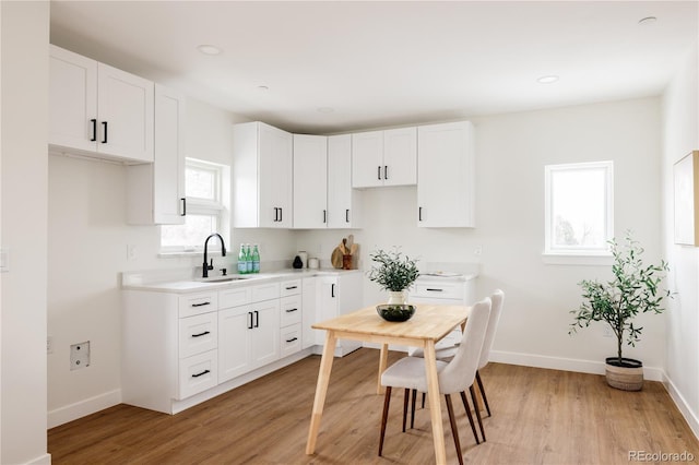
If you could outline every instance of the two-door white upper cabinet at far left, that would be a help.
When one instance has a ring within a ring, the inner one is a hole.
[[[56,46],[49,72],[50,145],[153,162],[153,82]]]

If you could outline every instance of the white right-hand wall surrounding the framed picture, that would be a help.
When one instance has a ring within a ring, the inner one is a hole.
[[[677,246],[673,231],[673,165],[699,150],[699,46],[695,44],[684,68],[663,98],[664,253],[670,283],[677,295],[667,311],[665,372],[668,391],[699,436],[699,248]],[[695,205],[695,207],[699,207]]]

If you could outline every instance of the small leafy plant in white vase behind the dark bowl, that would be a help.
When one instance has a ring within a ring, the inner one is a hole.
[[[398,249],[386,252],[381,249],[369,253],[375,264],[367,273],[370,281],[389,291],[388,303],[405,303],[406,290],[419,276],[415,260],[403,255]]]

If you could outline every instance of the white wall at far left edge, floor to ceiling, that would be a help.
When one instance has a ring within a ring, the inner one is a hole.
[[[50,463],[46,443],[49,4],[3,1],[0,463]]]

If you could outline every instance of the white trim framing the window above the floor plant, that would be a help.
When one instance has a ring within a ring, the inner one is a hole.
[[[552,248],[553,238],[553,202],[552,177],[556,171],[574,169],[602,168],[605,170],[605,237],[614,238],[614,162],[589,162],[564,165],[546,165],[544,167],[544,253],[543,261],[548,264],[607,265],[613,263],[608,247],[600,248]]]

